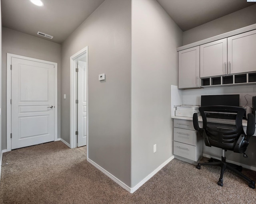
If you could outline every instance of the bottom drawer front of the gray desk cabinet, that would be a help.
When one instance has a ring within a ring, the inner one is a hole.
[[[196,147],[180,142],[173,142],[173,153],[180,157],[196,161]]]

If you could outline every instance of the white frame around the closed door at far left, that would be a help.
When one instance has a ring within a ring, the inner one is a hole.
[[[11,106],[11,98],[12,98],[12,72],[11,72],[11,64],[12,64],[12,57],[18,58],[18,59],[25,59],[30,61],[35,61],[39,63],[46,63],[50,65],[54,65],[54,141],[58,140],[58,96],[57,96],[57,74],[58,74],[58,63],[45,61],[41,59],[31,58],[31,57],[24,57],[21,55],[14,55],[11,53],[7,53],[7,97],[6,97],[6,123],[7,123],[7,129],[6,129],[6,143],[7,143],[7,151],[12,150],[12,140],[10,137],[11,131],[12,131],[12,106]]]

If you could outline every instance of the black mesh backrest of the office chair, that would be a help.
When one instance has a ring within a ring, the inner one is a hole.
[[[244,142],[245,133],[242,126],[242,118],[245,109],[235,106],[202,106],[199,111],[203,120],[201,129],[205,144],[207,146],[219,147],[225,150],[234,151],[235,145],[242,146],[245,151],[248,143]],[[215,122],[212,116],[215,116]],[[227,119],[227,116],[230,119]],[[229,124],[229,125],[226,125]],[[238,140],[240,144],[238,144]],[[246,145],[246,147],[245,147]],[[237,149],[237,148],[236,148]],[[241,151],[241,150],[236,150]]]

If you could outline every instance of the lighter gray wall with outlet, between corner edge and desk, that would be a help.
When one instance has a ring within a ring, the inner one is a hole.
[[[182,31],[156,0],[132,0],[132,187],[172,156],[170,93],[181,45]]]

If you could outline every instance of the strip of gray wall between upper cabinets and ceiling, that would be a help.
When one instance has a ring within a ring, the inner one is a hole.
[[[183,45],[256,24],[256,4],[183,32]]]

